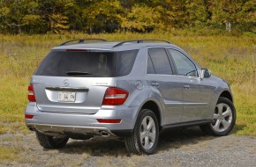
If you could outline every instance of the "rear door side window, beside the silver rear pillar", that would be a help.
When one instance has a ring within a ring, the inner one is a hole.
[[[148,58],[151,58],[150,60],[152,61],[151,63],[153,63],[152,65],[154,68],[153,71],[151,70],[152,67],[147,67],[148,74],[152,74],[152,72],[155,72],[155,74],[172,74],[172,70],[169,65],[169,58],[164,48],[150,48],[148,49],[148,54]],[[147,66],[151,66],[150,62],[147,63]],[[150,69],[150,71],[148,69]]]

